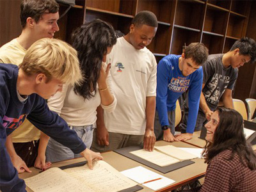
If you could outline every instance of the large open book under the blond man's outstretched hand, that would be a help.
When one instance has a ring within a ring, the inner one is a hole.
[[[50,168],[25,182],[35,192],[115,192],[137,185],[105,161],[94,161],[93,170],[87,164],[65,170]]]

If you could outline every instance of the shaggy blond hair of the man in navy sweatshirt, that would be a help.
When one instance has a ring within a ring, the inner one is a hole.
[[[51,38],[36,41],[19,65],[27,76],[42,73],[50,81],[55,77],[62,83],[79,84],[83,79],[77,51],[69,44]]]

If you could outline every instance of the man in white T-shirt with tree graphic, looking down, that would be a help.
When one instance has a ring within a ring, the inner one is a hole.
[[[156,142],[156,58],[147,49],[157,31],[152,12],[138,13],[130,31],[117,39],[107,60],[111,62],[113,90],[117,99],[112,113],[102,113],[93,134],[92,150],[106,151],[140,145],[152,150]]]

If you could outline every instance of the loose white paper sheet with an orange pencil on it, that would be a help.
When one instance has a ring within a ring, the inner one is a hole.
[[[124,174],[126,177],[129,177],[130,179],[138,182],[139,184],[143,184],[144,182],[147,182],[148,180],[154,180],[161,178],[159,180],[154,180],[152,182],[148,182],[143,184],[143,186],[146,186],[147,188],[158,190],[161,188],[164,188],[165,186],[168,186],[175,182],[175,180],[168,179],[167,177],[164,177],[163,175],[160,175],[158,173],[152,172],[143,166],[136,166],[134,168],[131,168],[129,170],[125,170],[123,172],[120,172]]]

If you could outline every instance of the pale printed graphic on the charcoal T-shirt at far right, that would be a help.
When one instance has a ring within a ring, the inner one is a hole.
[[[209,83],[205,84],[204,88],[204,97],[207,102],[210,102],[211,104],[218,104],[220,102],[220,97],[225,92],[225,89],[228,86],[228,83],[230,81],[229,76],[222,76],[221,74],[214,74],[212,76],[211,81]],[[221,90],[221,87],[222,90]]]

